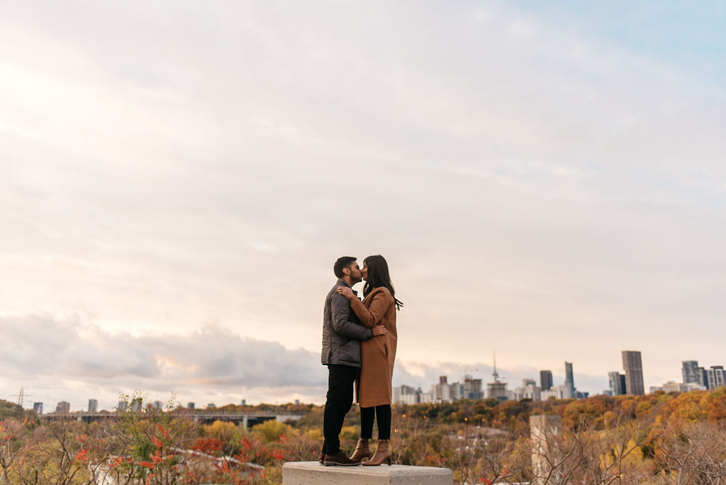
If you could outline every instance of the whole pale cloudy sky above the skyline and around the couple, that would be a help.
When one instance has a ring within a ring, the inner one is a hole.
[[[0,3],[0,399],[325,402],[338,256],[393,385],[726,364],[719,1]]]

